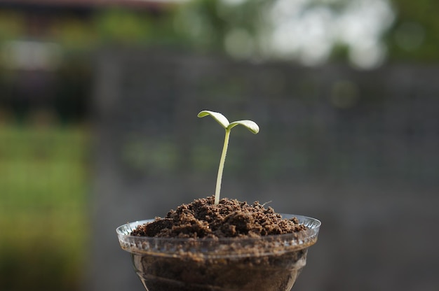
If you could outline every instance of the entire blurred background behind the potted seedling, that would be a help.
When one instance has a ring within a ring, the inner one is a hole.
[[[439,2],[0,1],[0,290],[142,290],[115,229],[322,220],[294,290],[437,290]]]

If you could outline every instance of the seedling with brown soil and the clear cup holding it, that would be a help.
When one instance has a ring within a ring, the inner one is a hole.
[[[219,199],[231,129],[241,125],[257,134],[259,127],[198,113],[208,115],[226,131],[215,196],[182,204],[164,218],[118,227],[121,248],[149,291],[288,291],[317,241],[320,221],[281,215],[257,201]]]

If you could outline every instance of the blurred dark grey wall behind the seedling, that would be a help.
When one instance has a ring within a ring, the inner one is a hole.
[[[305,68],[176,52],[97,57],[93,290],[142,290],[114,229],[212,194],[320,218],[297,290],[435,290],[439,68]]]

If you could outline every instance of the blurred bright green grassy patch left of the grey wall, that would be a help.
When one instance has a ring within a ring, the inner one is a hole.
[[[89,236],[88,131],[0,126],[0,289],[78,290]]]

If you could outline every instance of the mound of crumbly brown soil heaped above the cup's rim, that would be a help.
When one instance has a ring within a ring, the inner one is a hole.
[[[221,199],[218,205],[213,202],[214,197],[208,197],[182,204],[165,218],[138,226],[131,235],[212,239],[290,234],[306,229],[297,218],[284,219],[259,201],[252,205],[234,199]]]

